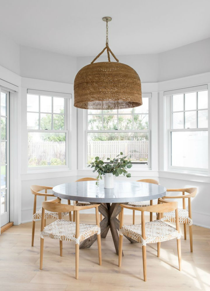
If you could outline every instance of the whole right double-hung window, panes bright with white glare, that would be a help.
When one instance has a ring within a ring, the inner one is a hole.
[[[174,90],[171,93],[168,166],[205,172],[208,170],[207,85]]]

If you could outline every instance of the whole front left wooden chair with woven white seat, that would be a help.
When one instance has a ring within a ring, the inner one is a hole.
[[[76,279],[79,273],[79,244],[81,241],[97,234],[98,240],[98,254],[99,265],[101,266],[101,235],[98,206],[100,204],[91,204],[86,206],[74,206],[61,204],[61,199],[49,200],[42,203],[42,220],[40,233],[40,270],[43,264],[43,246],[44,238],[52,238],[60,241],[60,256],[62,256],[62,241],[71,241],[75,243],[76,253]],[[95,208],[96,211],[96,225],[79,223],[79,211],[82,209]],[[52,211],[58,213],[59,219],[45,226],[45,211]],[[76,211],[76,223],[62,219],[62,213]]]

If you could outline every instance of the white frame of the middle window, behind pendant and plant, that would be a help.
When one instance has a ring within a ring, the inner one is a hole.
[[[87,160],[88,160],[88,133],[111,133],[111,132],[129,132],[129,133],[135,133],[135,132],[140,132],[140,133],[144,133],[147,132],[148,133],[148,163],[147,164],[142,164],[139,162],[133,162],[133,168],[138,167],[138,168],[142,168],[142,169],[150,169],[151,168],[151,99],[152,99],[152,93],[142,93],[142,99],[143,98],[148,98],[148,129],[144,129],[144,130],[88,130],[88,110],[85,110],[85,168],[87,168]],[[141,113],[139,113],[141,115]],[[142,113],[144,114],[144,113]],[[93,114],[94,116],[96,115],[102,115],[101,113],[99,114]],[[106,114],[108,115],[108,114]],[[110,113],[110,115],[112,115]],[[118,113],[117,115],[121,115],[120,113]],[[124,114],[122,114],[124,115]],[[130,115],[130,113],[128,113],[127,115]],[[132,115],[134,116],[134,114],[132,113]],[[102,118],[102,122],[103,122],[103,118]]]

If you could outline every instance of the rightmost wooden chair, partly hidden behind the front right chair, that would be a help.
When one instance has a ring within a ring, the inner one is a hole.
[[[190,252],[192,249],[192,209],[191,197],[195,197],[197,188],[183,188],[183,189],[167,189],[167,192],[182,192],[180,196],[164,196],[162,199],[182,199],[182,208],[178,208],[179,223],[184,225],[184,239],[186,240],[186,224],[189,224],[190,235]],[[185,194],[187,193],[187,194]],[[188,198],[188,211],[186,210],[185,199]],[[162,220],[168,222],[176,222],[175,212],[171,211],[162,214]]]

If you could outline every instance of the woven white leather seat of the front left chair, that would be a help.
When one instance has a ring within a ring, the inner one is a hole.
[[[81,241],[94,234],[99,235],[101,229],[98,225],[91,225],[80,223],[79,224],[79,237],[76,239],[76,223],[73,221],[67,221],[64,219],[58,219],[49,225],[45,226],[43,231],[40,233],[40,237],[53,238],[55,240],[71,241],[75,244],[80,244]]]

